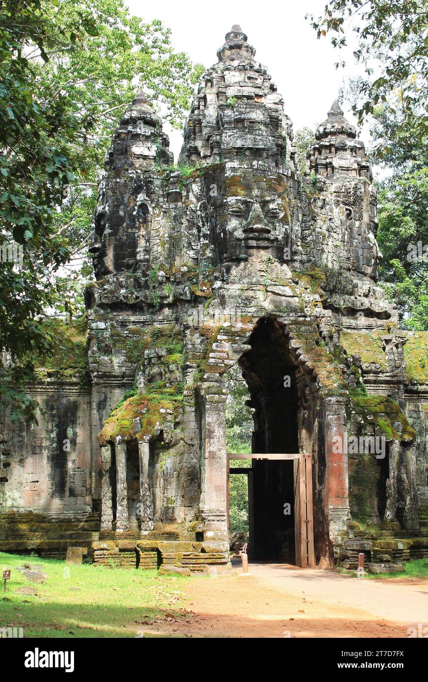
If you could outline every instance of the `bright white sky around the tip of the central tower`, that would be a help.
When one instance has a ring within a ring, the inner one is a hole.
[[[352,49],[334,49],[330,38],[317,40],[305,14],[322,14],[326,0],[127,0],[127,5],[144,20],[161,19],[172,31],[172,44],[186,52],[194,63],[206,68],[217,62],[217,48],[233,24],[239,24],[256,48],[256,59],[271,74],[284,98],[284,108],[292,119],[294,131],[303,125],[316,128],[326,118],[344,77],[358,72]],[[353,40],[352,33],[349,35]],[[335,62],[346,59],[345,69],[336,70]],[[353,121],[346,103],[345,115]],[[181,133],[170,134],[170,147],[177,162]],[[367,134],[362,136],[363,140]]]

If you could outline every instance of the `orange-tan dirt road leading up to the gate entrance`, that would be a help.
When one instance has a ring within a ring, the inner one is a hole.
[[[428,626],[428,581],[357,579],[322,570],[251,564],[180,581],[188,597],[162,632],[192,637],[408,637]],[[157,632],[159,629],[157,628]]]

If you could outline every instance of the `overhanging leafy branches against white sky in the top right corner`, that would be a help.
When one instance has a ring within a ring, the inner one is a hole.
[[[354,57],[365,68],[353,104],[358,121],[388,102],[393,114],[401,113],[401,143],[406,128],[422,143],[428,134],[428,1],[330,0],[323,16],[310,19],[318,38],[333,33],[337,48],[348,44],[349,31],[358,38]],[[385,151],[381,144],[374,149],[380,158]]]

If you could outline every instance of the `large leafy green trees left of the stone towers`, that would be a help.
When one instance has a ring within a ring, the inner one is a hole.
[[[0,264],[0,351],[12,359],[0,391],[14,416],[33,412],[22,384],[52,344],[46,309],[81,303],[81,272],[58,274],[89,246],[96,170],[121,110],[144,86],[177,124],[199,74],[162,23],[122,0],[0,1],[0,246],[22,256]]]

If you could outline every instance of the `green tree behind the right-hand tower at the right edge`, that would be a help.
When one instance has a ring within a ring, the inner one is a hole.
[[[378,191],[381,284],[396,303],[403,327],[428,330],[428,139],[418,143],[388,104],[378,106],[373,118],[374,140],[390,150],[383,160],[390,174]],[[401,144],[403,134],[406,144]]]

